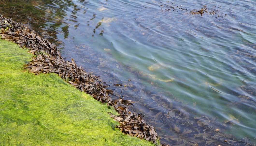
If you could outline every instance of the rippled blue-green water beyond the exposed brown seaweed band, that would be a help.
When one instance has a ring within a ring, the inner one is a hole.
[[[66,60],[99,75],[113,99],[137,101],[129,107],[169,145],[195,145],[190,134],[197,139],[198,131],[255,143],[255,4],[0,1],[4,17],[35,30],[58,45]],[[200,118],[209,121],[208,131],[189,125],[205,127]],[[218,127],[230,120],[230,128]]]

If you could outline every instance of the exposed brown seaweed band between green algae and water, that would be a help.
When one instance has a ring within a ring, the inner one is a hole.
[[[122,103],[112,101],[99,76],[83,71],[83,68],[78,67],[74,60],[72,62],[65,61],[54,44],[41,38],[34,31],[30,31],[20,23],[0,15],[0,28],[2,38],[14,41],[21,47],[26,47],[29,49],[28,52],[36,55],[32,61],[25,65],[25,69],[29,72],[58,74],[71,85],[86,92],[96,100],[113,106],[119,113],[119,116],[114,116],[114,119],[118,119],[120,125],[117,127],[122,132],[140,139],[146,139],[152,143],[157,142],[158,135],[154,127],[144,122],[140,115],[130,111]]]

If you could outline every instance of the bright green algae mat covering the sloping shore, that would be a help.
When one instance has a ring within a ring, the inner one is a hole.
[[[34,75],[32,55],[0,40],[0,145],[154,145],[124,135],[96,101],[56,74]]]

